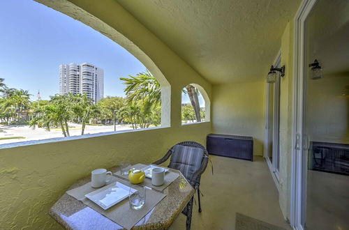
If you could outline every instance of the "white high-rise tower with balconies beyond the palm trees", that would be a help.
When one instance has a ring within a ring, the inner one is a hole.
[[[98,102],[103,98],[104,71],[90,63],[59,66],[59,94],[86,94]]]

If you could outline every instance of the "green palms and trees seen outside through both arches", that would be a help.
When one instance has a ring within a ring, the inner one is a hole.
[[[61,128],[69,137],[69,123],[82,125],[81,135],[90,123],[129,123],[133,129],[149,128],[161,124],[161,86],[146,70],[136,76],[121,77],[126,86],[125,98],[107,96],[96,104],[87,95],[64,94],[50,96],[50,100],[31,101],[29,91],[8,88],[0,78],[1,124],[29,124],[32,128]],[[184,89],[191,99],[185,109],[184,120],[202,121],[205,113],[200,110],[198,90],[189,85]],[[194,117],[195,116],[195,117]]]

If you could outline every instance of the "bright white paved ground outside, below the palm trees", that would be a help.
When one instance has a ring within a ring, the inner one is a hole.
[[[69,126],[74,127],[69,129],[70,136],[81,135],[82,125],[70,123]],[[3,132],[0,132],[0,138],[25,137],[25,139],[3,139],[0,140],[0,144],[64,137],[61,129],[52,129],[51,131],[47,131],[44,128],[29,128],[29,125],[0,125],[0,130],[3,130]],[[132,127],[130,127],[130,125],[117,125],[117,131],[119,130],[132,130]],[[84,134],[93,134],[98,132],[114,132],[114,125],[86,125],[84,130]]]

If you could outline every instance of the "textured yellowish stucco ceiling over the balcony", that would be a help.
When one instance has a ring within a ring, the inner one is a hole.
[[[262,79],[300,0],[116,0],[214,84]]]

